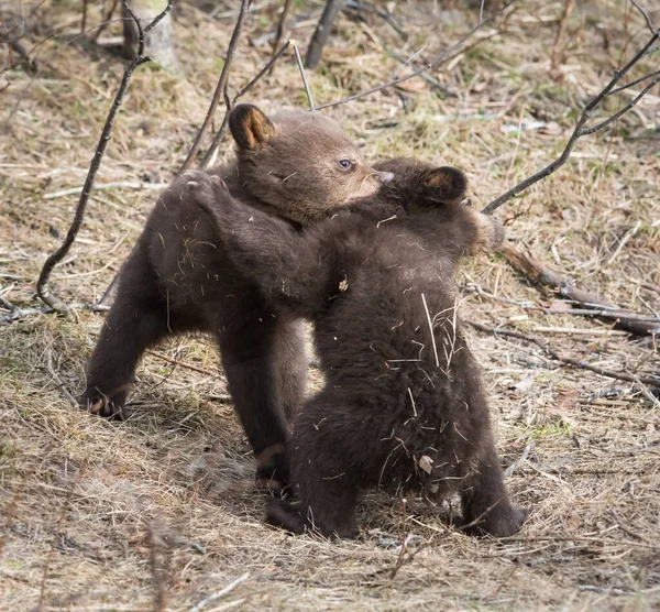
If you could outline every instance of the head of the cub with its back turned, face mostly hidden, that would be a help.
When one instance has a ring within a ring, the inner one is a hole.
[[[492,253],[501,247],[504,228],[493,217],[472,208],[465,198],[468,178],[460,170],[407,157],[376,164],[376,168],[395,175],[382,193],[399,203],[408,218],[419,218],[420,231],[442,228],[442,234],[436,237],[439,243],[451,242],[471,255]]]

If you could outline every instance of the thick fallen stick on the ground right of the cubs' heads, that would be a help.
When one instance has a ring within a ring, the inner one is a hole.
[[[573,286],[571,283],[548,270],[539,260],[531,255],[521,253],[510,244],[505,244],[499,249],[506,260],[530,282],[550,287],[566,299],[571,299],[584,307],[586,316],[597,317],[607,321],[615,321],[616,329],[625,329],[639,336],[660,335],[660,321],[657,319],[640,320],[640,316],[635,313],[626,313],[617,306],[609,304],[583,289]],[[595,309],[594,306],[602,308]],[[646,318],[646,317],[644,317]]]

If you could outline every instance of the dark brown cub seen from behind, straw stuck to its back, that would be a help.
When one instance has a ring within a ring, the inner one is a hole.
[[[493,250],[503,228],[461,203],[450,167],[395,160],[380,194],[295,232],[234,200],[221,181],[189,175],[237,269],[279,305],[311,319],[324,387],[294,419],[294,501],[266,501],[267,520],[294,533],[358,533],[369,487],[438,496],[460,492],[463,526],[508,536],[527,512],[512,506],[480,370],[461,332],[453,272]]]

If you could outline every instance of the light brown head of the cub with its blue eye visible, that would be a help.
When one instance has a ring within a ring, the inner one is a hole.
[[[374,195],[394,178],[367,166],[341,128],[318,112],[268,118],[255,106],[239,105],[229,128],[243,188],[295,221]]]

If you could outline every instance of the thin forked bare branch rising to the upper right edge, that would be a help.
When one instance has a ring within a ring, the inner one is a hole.
[[[559,167],[561,167],[563,164],[565,164],[565,162],[568,161],[568,159],[571,155],[571,152],[573,151],[573,147],[575,146],[575,143],[578,142],[578,140],[580,138],[582,138],[583,135],[593,134],[594,132],[602,130],[603,128],[607,127],[609,123],[612,123],[613,121],[618,119],[622,114],[625,114],[626,112],[628,112],[649,91],[649,89],[651,89],[651,87],[654,87],[658,83],[660,83],[660,76],[656,77],[654,79],[651,80],[651,83],[649,83],[641,90],[641,92],[630,103],[626,105],[622,110],[619,110],[618,112],[616,112],[615,114],[613,114],[612,117],[606,119],[605,121],[602,121],[601,123],[597,123],[596,125],[593,125],[592,128],[584,127],[586,124],[588,118],[591,117],[592,111],[607,96],[609,96],[612,94],[612,91],[615,88],[615,85],[617,83],[619,83],[620,79],[630,70],[630,68],[632,66],[635,66],[644,57],[646,52],[651,47],[651,45],[658,39],[660,39],[660,31],[653,32],[652,36],[649,39],[649,41],[646,43],[646,45],[644,45],[644,47],[635,55],[635,57],[632,57],[632,59],[630,59],[630,62],[628,62],[620,70],[615,72],[614,77],[601,90],[601,92],[587,102],[587,105],[584,107],[584,110],[582,111],[582,114],[580,116],[580,119],[578,120],[578,124],[575,125],[575,129],[573,130],[573,133],[571,134],[569,142],[566,143],[564,150],[562,151],[561,155],[557,160],[554,160],[553,162],[548,164],[543,170],[537,172],[536,174],[527,177],[525,181],[518,183],[518,185],[510,188],[508,192],[506,192],[506,194],[503,194],[498,198],[495,198],[491,204],[488,204],[488,206],[486,206],[482,210],[482,212],[485,212],[485,214],[493,212],[493,210],[496,210],[503,204],[507,203],[509,199],[517,196],[519,193],[524,192],[525,189],[527,189],[535,183],[538,183],[539,181],[541,181],[541,178],[546,178],[546,176],[551,175]]]

